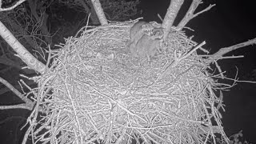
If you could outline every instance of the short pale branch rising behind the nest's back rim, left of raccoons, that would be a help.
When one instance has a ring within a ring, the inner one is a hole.
[[[108,22],[106,20],[106,15],[104,14],[104,11],[102,9],[101,2],[99,2],[99,0],[91,0],[91,3],[93,4],[94,10],[98,15],[99,22],[101,22],[102,25],[107,25]]]

